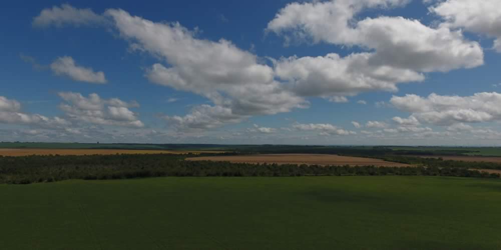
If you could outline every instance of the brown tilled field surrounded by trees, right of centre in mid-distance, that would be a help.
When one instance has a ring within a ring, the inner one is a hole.
[[[381,159],[340,156],[333,154],[256,154],[231,156],[192,157],[187,160],[230,161],[236,163],[318,164],[318,165],[376,165],[412,166]]]

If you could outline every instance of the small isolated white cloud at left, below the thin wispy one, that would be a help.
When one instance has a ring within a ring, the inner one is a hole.
[[[92,68],[76,65],[71,56],[58,57],[50,67],[56,75],[68,76],[77,81],[89,83],[107,82],[103,71],[94,72]]]

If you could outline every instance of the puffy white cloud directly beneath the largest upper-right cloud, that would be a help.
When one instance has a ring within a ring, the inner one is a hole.
[[[276,73],[290,82],[290,89],[301,96],[354,95],[359,92],[396,91],[398,82],[424,80],[418,72],[374,65],[373,53],[356,53],[340,57],[291,56],[276,62]]]

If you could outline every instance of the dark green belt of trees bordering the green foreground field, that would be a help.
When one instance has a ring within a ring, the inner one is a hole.
[[[125,179],[160,176],[436,175],[499,177],[499,174],[489,174],[462,166],[321,166],[184,160],[186,157],[194,156],[206,156],[206,154],[0,156],[0,183],[28,184],[65,179]]]

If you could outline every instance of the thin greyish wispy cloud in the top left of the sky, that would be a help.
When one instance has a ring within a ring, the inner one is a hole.
[[[96,14],[90,8],[75,8],[69,4],[62,4],[61,7],[53,6],[45,8],[38,16],[33,18],[33,26],[49,27],[54,25],[62,27],[64,25],[92,25],[105,23],[106,19]]]

